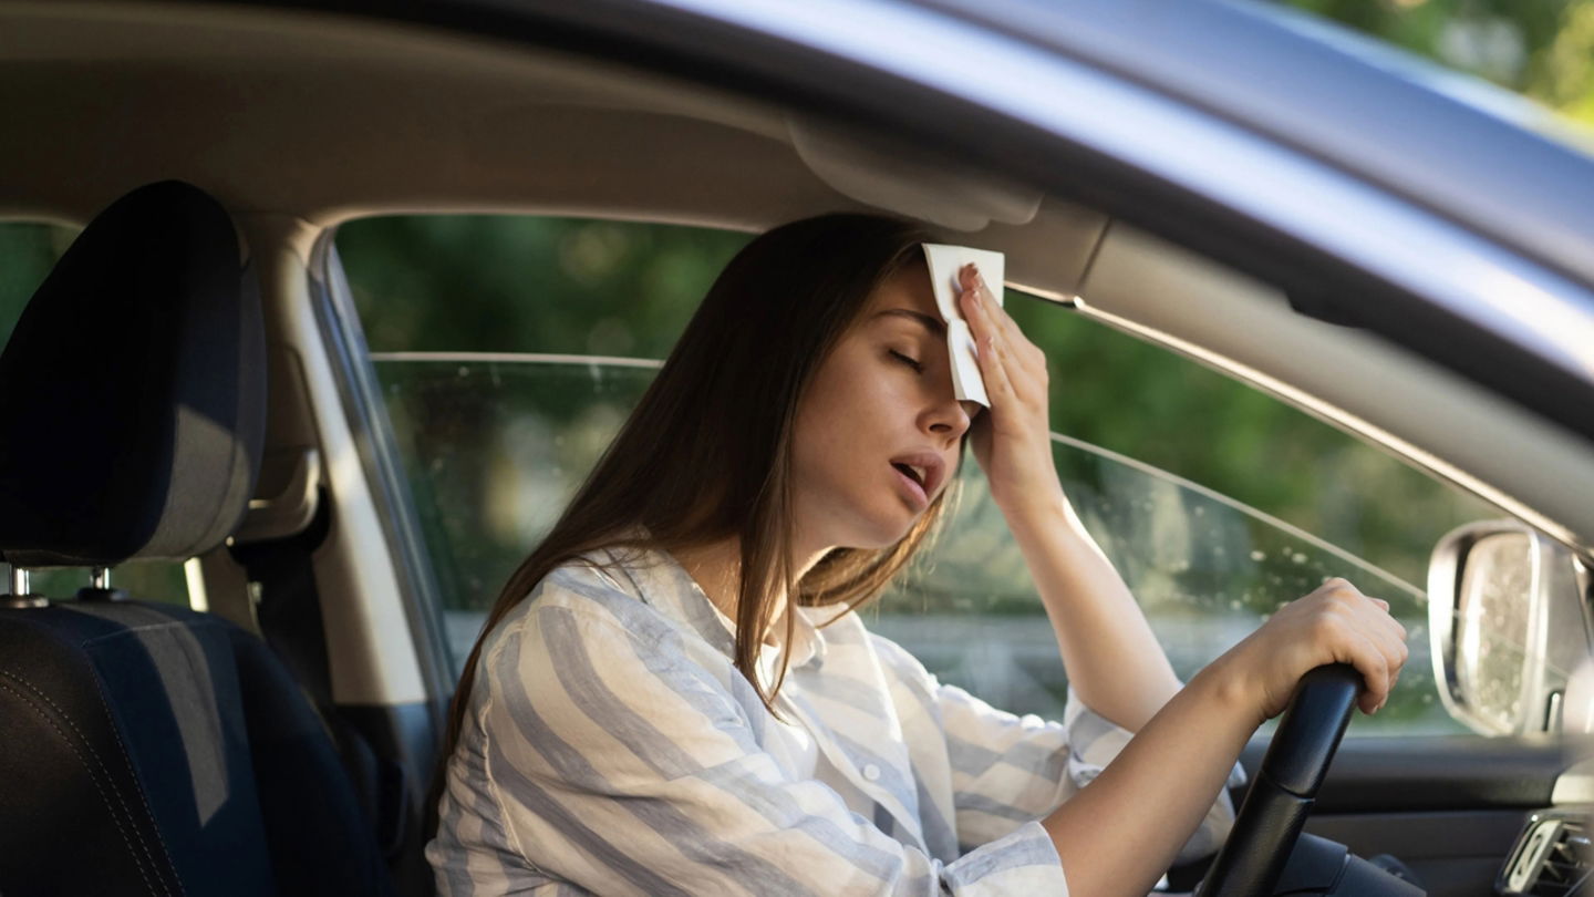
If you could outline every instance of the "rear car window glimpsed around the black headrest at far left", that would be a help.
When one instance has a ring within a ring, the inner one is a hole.
[[[78,228],[48,222],[0,222],[0,345],[11,340],[18,318],[27,308],[51,267],[77,238]],[[11,591],[11,567],[0,563],[3,584]],[[164,562],[124,563],[112,570],[113,587],[131,595],[169,603],[190,603],[188,581],[183,565]],[[30,575],[29,587],[51,599],[70,599],[88,586],[84,570],[38,570]]]

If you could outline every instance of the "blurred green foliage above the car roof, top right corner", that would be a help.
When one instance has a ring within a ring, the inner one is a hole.
[[[1594,0],[1285,0],[1594,126]]]

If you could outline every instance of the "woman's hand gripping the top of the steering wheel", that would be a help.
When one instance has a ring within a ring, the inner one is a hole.
[[[1372,713],[1388,699],[1408,656],[1406,627],[1388,610],[1388,602],[1369,599],[1336,576],[1280,608],[1213,667],[1254,701],[1258,725],[1283,712],[1307,670],[1336,662],[1361,674],[1358,704]]]

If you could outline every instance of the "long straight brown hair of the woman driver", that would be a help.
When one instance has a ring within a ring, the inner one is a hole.
[[[792,426],[837,340],[886,278],[923,263],[918,244],[931,239],[907,222],[830,214],[770,230],[730,260],[620,434],[488,613],[450,707],[443,763],[488,634],[555,567],[595,549],[677,551],[735,536],[735,664],[767,707],[786,675],[784,654],[773,683],[754,666],[775,597],[858,607],[886,586],[940,516],[945,492],[899,543],[834,549],[794,583]]]

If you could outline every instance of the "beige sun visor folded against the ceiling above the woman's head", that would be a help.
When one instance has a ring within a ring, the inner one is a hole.
[[[1035,219],[1041,193],[1007,180],[931,161],[910,145],[859,139],[834,126],[787,117],[797,156],[837,193],[899,215],[974,231],[991,222]]]

